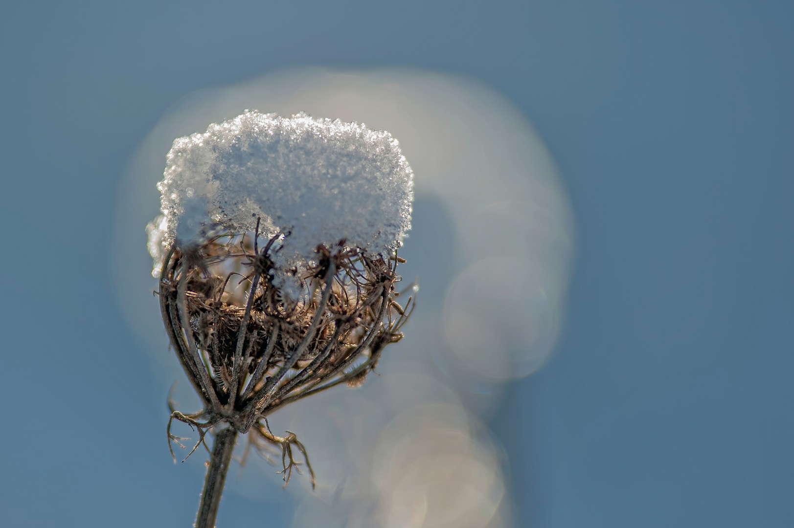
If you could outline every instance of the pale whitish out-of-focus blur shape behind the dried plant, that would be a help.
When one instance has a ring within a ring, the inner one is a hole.
[[[476,413],[496,403],[499,383],[540,368],[561,329],[572,215],[542,141],[498,94],[426,71],[302,68],[184,98],[133,157],[114,231],[121,310],[152,353],[164,395],[181,375],[151,293],[144,228],[158,214],[156,182],[174,138],[245,109],[388,130],[415,174],[409,262],[398,271],[422,288],[406,338],[386,349],[380,376],[364,387],[270,419],[274,433],[298,434],[318,476],[314,492],[301,476],[287,488],[303,496],[294,526],[509,525],[503,455]],[[178,399],[189,401],[187,392]],[[260,465],[251,461],[245,474]],[[280,492],[265,467],[273,484],[259,488]],[[228,485],[256,495],[250,482]]]

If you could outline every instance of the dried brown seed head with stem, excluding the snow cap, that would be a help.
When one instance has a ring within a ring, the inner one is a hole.
[[[227,233],[191,249],[172,248],[160,274],[160,309],[173,349],[202,399],[203,409],[183,414],[171,407],[168,447],[186,449],[171,433],[173,420],[198,430],[187,455],[215,434],[197,528],[214,526],[225,475],[238,434],[266,454],[281,450],[286,486],[295,461],[293,449],[312,470],[306,448],[295,434],[272,434],[273,411],[341,383],[356,387],[376,368],[383,349],[403,334],[414,308],[401,306],[395,292],[396,265],[403,261],[349,248],[318,246],[315,262],[291,270],[301,288],[298,299],[274,285],[272,253],[284,233],[258,244],[253,236]],[[288,236],[288,235],[287,235]],[[239,282],[235,279],[241,277]],[[173,455],[173,450],[171,451]]]

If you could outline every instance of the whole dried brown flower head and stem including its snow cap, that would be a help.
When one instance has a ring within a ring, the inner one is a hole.
[[[413,303],[398,302],[397,249],[410,228],[412,172],[388,133],[247,111],[177,139],[159,188],[163,215],[148,233],[160,308],[204,406],[172,409],[172,420],[199,430],[194,451],[228,426],[216,437],[202,526],[238,433],[282,450],[286,482],[293,447],[306,451],[295,434],[272,434],[268,414],[360,385],[402,337]],[[169,447],[182,440],[170,425]]]

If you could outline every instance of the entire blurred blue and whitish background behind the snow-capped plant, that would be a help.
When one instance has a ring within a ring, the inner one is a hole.
[[[790,3],[0,13],[2,526],[193,522],[143,227],[257,106],[395,133],[421,289],[381,376],[273,417],[318,491],[252,457],[218,526],[794,524]]]

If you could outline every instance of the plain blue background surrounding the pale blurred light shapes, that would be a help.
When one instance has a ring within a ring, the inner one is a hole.
[[[790,2],[4,2],[0,524],[189,526],[116,186],[184,94],[320,64],[480,79],[569,187],[565,335],[491,422],[518,526],[794,526],[792,50]]]

